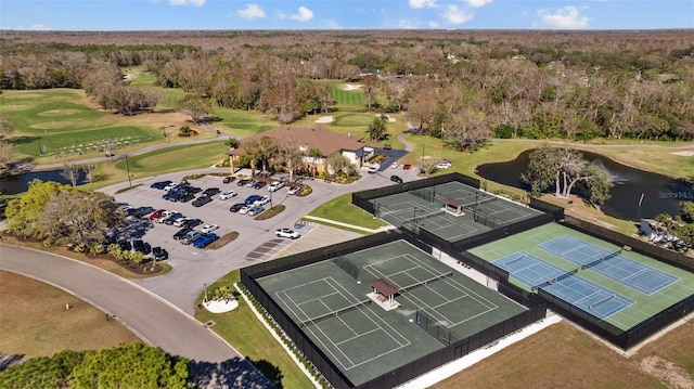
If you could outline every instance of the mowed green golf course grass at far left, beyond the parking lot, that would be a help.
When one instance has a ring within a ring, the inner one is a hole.
[[[0,114],[15,128],[9,137],[14,157],[33,158],[36,164],[101,156],[108,143],[120,154],[163,142],[163,128],[175,140],[174,133],[187,122],[177,113],[123,116],[103,112],[82,90],[73,89],[4,91]]]

